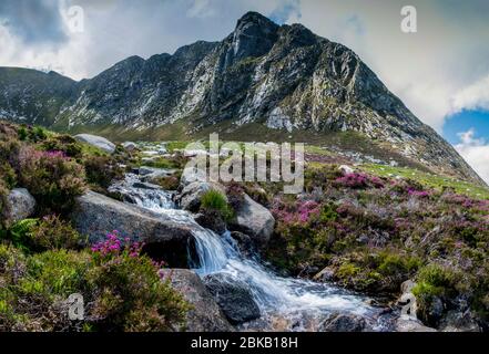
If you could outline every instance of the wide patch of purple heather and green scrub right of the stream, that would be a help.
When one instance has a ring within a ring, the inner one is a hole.
[[[489,200],[336,165],[309,167],[305,184],[297,197],[274,192],[275,266],[304,277],[324,269],[343,287],[393,298],[414,279],[426,323],[437,324],[426,315],[435,296],[446,310],[465,299],[487,321]]]

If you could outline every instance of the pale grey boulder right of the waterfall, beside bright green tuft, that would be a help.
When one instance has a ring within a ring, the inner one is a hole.
[[[230,222],[231,230],[248,235],[258,248],[263,248],[268,243],[274,227],[275,219],[272,212],[246,194],[237,207],[236,217]]]

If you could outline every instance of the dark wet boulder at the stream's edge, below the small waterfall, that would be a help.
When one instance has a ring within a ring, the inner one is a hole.
[[[259,308],[245,282],[216,273],[206,275],[204,283],[232,324],[259,317]]]

